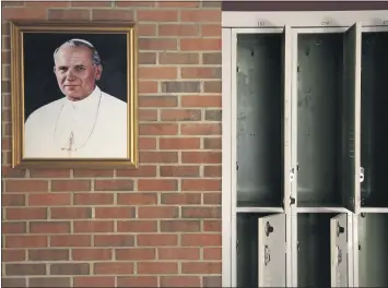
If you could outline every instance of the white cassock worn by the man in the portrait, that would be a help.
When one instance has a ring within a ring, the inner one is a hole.
[[[25,122],[27,158],[127,157],[127,104],[102,92],[67,97],[35,110]]]

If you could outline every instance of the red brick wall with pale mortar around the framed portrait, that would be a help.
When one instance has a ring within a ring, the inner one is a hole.
[[[221,286],[221,8],[2,3],[3,286]],[[11,169],[5,20],[133,20],[140,168]]]

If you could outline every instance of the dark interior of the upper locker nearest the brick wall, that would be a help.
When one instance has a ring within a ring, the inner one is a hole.
[[[238,206],[282,205],[282,35],[237,37]]]

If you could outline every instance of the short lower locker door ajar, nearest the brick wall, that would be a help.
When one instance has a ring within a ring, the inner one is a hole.
[[[258,286],[286,287],[285,215],[258,219]]]

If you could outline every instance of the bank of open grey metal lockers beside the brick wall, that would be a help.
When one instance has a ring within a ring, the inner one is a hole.
[[[358,17],[223,28],[226,286],[388,286],[388,17]]]

